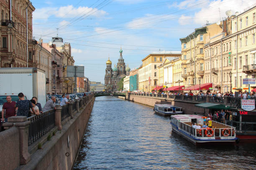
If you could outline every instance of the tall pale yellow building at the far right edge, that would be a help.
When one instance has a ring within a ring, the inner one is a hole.
[[[256,7],[253,7],[232,18],[232,89],[248,91],[243,78],[256,75],[255,13]]]

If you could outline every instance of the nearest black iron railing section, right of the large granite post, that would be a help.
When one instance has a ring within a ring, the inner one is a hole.
[[[55,110],[48,110],[41,115],[28,117],[30,125],[28,128],[28,146],[45,135],[55,126]]]

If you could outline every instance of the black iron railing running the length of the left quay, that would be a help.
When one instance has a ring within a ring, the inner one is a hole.
[[[77,112],[77,102],[79,103],[79,109],[86,105],[91,99],[92,95],[84,96],[79,100],[75,100],[74,102],[70,102],[67,105],[59,106],[61,108],[60,111],[60,122],[65,120],[69,116],[73,116]],[[56,105],[58,106],[58,105]],[[69,107],[72,107],[72,113],[69,113]],[[56,110],[51,109],[46,112],[41,113],[40,115],[33,115],[28,117],[27,120],[30,120],[30,125],[28,128],[28,146],[36,142],[39,138],[48,133],[52,128],[56,125]]]

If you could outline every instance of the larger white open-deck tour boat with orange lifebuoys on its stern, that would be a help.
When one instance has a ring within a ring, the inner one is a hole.
[[[172,115],[172,130],[195,145],[203,143],[233,143],[236,142],[236,128],[212,121],[212,128],[193,128],[192,122],[201,127],[204,122],[201,115]]]

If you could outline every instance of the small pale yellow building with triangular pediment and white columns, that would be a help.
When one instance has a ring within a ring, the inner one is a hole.
[[[158,66],[159,69],[159,85],[164,87],[172,87],[179,85],[183,85],[182,80],[182,60],[181,53],[177,53],[178,57],[165,57],[164,61],[161,65]]]

